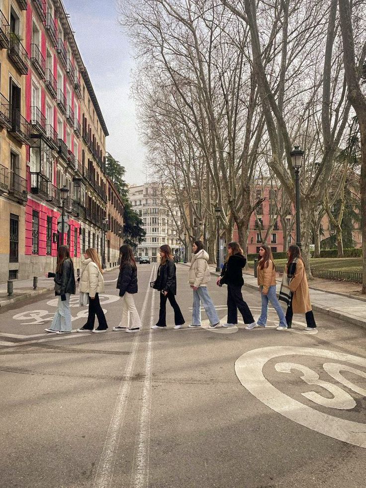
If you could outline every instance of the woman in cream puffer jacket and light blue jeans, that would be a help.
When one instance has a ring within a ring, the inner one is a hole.
[[[208,254],[203,249],[202,241],[194,241],[192,258],[188,272],[188,283],[193,290],[192,323],[188,327],[201,326],[201,301],[212,328],[220,325],[214,304],[207,291],[211,274],[208,268]]]

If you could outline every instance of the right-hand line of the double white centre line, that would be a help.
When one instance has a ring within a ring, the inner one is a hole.
[[[153,293],[151,310],[154,310],[155,295]],[[150,417],[151,417],[151,381],[153,370],[153,331],[154,313],[150,317],[150,331],[145,359],[145,380],[142,387],[142,398],[139,412],[139,434],[131,473],[130,488],[147,488],[149,483],[150,454]]]

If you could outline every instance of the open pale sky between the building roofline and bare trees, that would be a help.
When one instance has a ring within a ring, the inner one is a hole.
[[[115,0],[63,0],[109,136],[106,149],[130,184],[145,182],[144,150],[129,97],[132,49],[117,23]]]

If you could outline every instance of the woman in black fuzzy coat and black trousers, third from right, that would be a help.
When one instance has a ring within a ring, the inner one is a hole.
[[[243,268],[247,263],[243,250],[237,242],[229,242],[227,246],[228,258],[225,261],[217,285],[227,285],[227,323],[223,327],[233,327],[238,323],[238,309],[243,315],[245,324],[255,327],[256,322],[247,302],[243,300],[242,286]]]

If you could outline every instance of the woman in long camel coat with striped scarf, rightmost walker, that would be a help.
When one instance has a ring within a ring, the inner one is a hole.
[[[287,304],[287,327],[291,328],[294,313],[305,313],[307,325],[305,330],[314,330],[316,323],[311,308],[309,286],[300,248],[292,244],[288,248],[287,256],[288,260],[283,271],[282,284],[279,291],[279,299]]]

